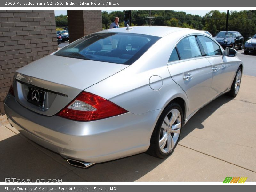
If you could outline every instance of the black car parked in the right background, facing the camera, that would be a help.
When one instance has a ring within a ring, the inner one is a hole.
[[[231,47],[233,49],[243,49],[244,37],[237,31],[220,31],[214,39],[225,49]]]

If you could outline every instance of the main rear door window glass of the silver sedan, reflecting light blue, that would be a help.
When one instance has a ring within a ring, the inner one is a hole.
[[[189,36],[182,39],[177,44],[181,59],[189,59],[202,56],[195,36]]]

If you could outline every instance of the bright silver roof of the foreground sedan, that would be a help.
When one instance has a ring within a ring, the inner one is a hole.
[[[113,28],[102,30],[97,33],[106,33],[106,32],[113,32],[113,33],[134,33],[134,34],[144,34],[144,35],[152,35],[163,37],[167,34],[187,30],[188,33],[202,33],[195,29],[188,29],[188,28],[181,28],[181,27],[167,27],[167,26],[133,26],[132,29],[127,29],[127,27],[121,28]]]

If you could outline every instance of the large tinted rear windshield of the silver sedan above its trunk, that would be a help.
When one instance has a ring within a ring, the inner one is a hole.
[[[63,47],[54,55],[131,65],[160,37],[128,33],[95,33]]]

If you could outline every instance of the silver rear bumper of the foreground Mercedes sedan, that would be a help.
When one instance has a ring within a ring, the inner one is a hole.
[[[125,113],[91,122],[44,116],[21,106],[12,95],[4,100],[8,121],[21,134],[63,158],[100,163],[145,152],[162,110]]]

